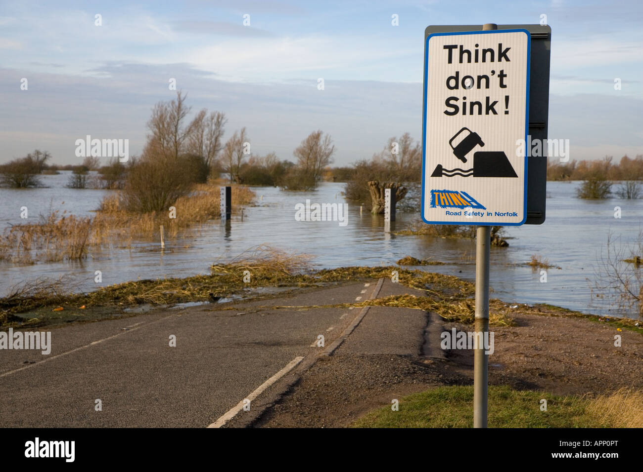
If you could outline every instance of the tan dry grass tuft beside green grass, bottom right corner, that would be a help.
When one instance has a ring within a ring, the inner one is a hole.
[[[643,428],[643,392],[622,388],[590,399],[587,412],[612,428]]]

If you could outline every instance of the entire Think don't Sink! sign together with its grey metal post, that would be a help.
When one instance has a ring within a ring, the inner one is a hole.
[[[549,34],[546,25],[493,23],[425,31],[422,220],[477,227],[475,428],[487,427],[489,358],[478,343],[489,339],[491,226],[545,220],[546,160],[528,159],[526,143],[532,128],[547,135],[547,107],[537,103],[530,119],[530,92],[531,100],[547,102]],[[528,182],[534,184],[529,195]]]

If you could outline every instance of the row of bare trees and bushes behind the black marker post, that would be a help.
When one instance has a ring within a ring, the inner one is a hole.
[[[312,132],[294,150],[297,162],[280,161],[275,153],[251,153],[246,128],[223,143],[227,119],[222,112],[203,109],[187,121],[186,95],[159,102],[147,123],[150,133],[140,157],[126,171],[122,203],[129,211],[162,211],[208,176],[227,173],[230,182],[311,189],[332,162],[331,136]]]

